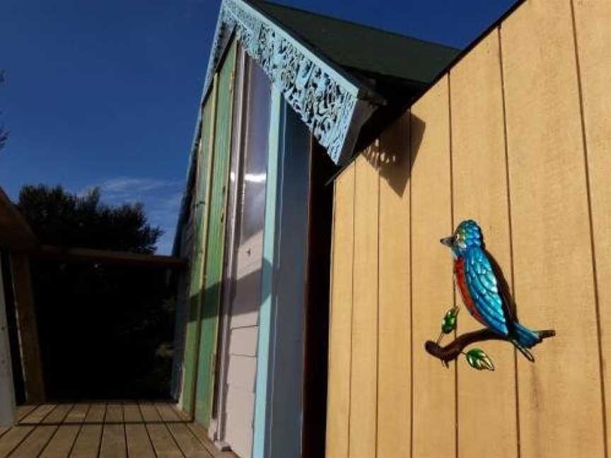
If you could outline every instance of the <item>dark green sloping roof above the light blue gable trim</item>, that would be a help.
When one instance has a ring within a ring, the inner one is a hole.
[[[460,49],[267,1],[253,6],[350,71],[428,85]]]

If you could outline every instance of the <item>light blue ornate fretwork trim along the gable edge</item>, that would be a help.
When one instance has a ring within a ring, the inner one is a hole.
[[[242,0],[223,0],[208,62],[208,92],[223,49],[235,37],[269,76],[334,163],[348,160],[361,127],[383,99],[334,69]]]

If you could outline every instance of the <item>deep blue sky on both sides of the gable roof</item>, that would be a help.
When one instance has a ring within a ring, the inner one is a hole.
[[[279,0],[465,47],[514,0]],[[1,0],[0,187],[142,201],[168,253],[220,0]]]

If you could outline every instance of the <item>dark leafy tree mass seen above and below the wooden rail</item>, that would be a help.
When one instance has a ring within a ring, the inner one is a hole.
[[[17,206],[45,245],[153,253],[161,235],[141,204],[103,204],[99,189],[24,186]],[[168,396],[174,310],[165,271],[34,260],[32,277],[48,397]]]

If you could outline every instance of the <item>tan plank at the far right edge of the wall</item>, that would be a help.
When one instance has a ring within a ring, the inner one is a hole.
[[[611,360],[611,2],[573,1],[588,152],[590,206],[602,359]],[[607,453],[611,449],[611,374],[603,364]]]

